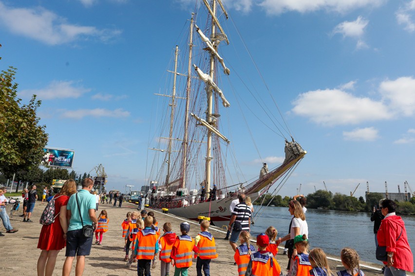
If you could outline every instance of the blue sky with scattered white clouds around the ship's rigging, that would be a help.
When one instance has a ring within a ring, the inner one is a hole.
[[[385,181],[389,192],[405,180],[415,188],[415,0],[223,1],[226,63],[239,67],[231,52],[243,49],[234,23],[308,152],[280,194],[322,181],[346,194],[361,183],[355,196],[366,181],[372,191]],[[153,93],[166,89],[194,2],[0,0],[0,69],[18,68],[19,97],[42,100],[48,146],[74,149],[75,171],[102,163],[110,189],[147,183]],[[259,138],[260,156],[247,141],[235,140],[246,179],[281,161],[281,138]]]

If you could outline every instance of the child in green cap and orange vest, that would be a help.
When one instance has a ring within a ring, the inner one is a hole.
[[[287,276],[310,276],[312,269],[308,259],[308,240],[307,235],[298,235],[294,237],[294,246],[297,249],[297,255],[294,257],[293,268]]]

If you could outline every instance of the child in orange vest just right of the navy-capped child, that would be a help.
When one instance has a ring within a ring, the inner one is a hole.
[[[196,261],[196,273],[197,276],[202,276],[202,269],[205,276],[210,275],[210,260],[218,258],[216,254],[215,238],[207,230],[210,223],[207,220],[203,220],[200,223],[200,232],[196,238],[194,238],[194,245],[198,248]]]

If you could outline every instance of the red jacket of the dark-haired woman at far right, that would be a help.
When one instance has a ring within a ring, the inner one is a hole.
[[[402,234],[399,237],[401,231]],[[393,267],[414,272],[414,258],[409,247],[405,223],[401,217],[392,215],[382,220],[377,231],[377,242],[379,246],[386,246],[386,252],[394,252]]]

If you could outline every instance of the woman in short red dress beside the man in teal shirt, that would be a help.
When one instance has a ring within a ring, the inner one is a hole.
[[[52,276],[55,269],[57,254],[66,246],[66,205],[71,195],[76,193],[76,183],[73,179],[66,180],[55,198],[55,222],[43,225],[40,231],[38,248],[42,250],[38,259],[38,276]]]

